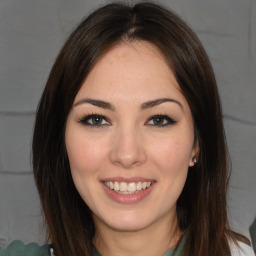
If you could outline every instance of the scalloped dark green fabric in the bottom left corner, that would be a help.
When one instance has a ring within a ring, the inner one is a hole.
[[[49,244],[38,245],[37,243],[29,243],[25,245],[22,241],[15,240],[11,242],[7,248],[0,248],[0,256],[54,256]]]

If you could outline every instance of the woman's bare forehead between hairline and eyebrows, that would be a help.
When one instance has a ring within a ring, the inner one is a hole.
[[[85,79],[76,100],[148,100],[173,96],[184,100],[163,54],[145,41],[122,42],[107,51]]]

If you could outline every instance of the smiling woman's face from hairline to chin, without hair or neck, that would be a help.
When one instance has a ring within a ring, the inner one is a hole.
[[[197,148],[188,103],[155,46],[120,43],[96,63],[74,100],[65,140],[95,224],[132,231],[176,216]]]

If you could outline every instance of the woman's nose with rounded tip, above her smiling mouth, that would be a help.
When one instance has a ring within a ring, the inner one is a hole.
[[[112,164],[130,169],[146,162],[146,149],[142,138],[135,129],[118,131],[110,150]]]

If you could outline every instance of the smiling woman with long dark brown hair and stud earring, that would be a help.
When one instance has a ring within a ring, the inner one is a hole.
[[[253,255],[228,225],[208,57],[159,5],[109,4],[71,34],[39,103],[33,167],[58,256]]]

